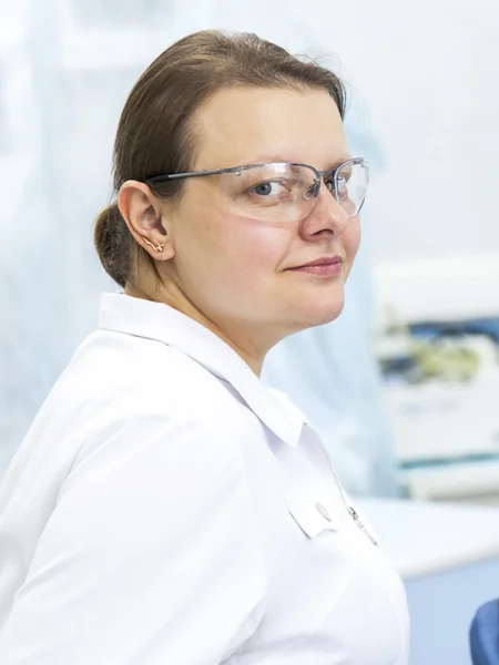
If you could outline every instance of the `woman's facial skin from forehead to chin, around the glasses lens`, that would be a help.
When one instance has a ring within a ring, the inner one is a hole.
[[[225,89],[197,112],[195,127],[196,171],[263,162],[322,171],[352,156],[336,104],[323,91]],[[277,223],[227,209],[217,175],[184,184],[169,227],[174,257],[162,266],[205,317],[273,345],[340,314],[360,225],[324,183],[305,218]],[[297,269],[322,257],[340,257],[337,274]]]

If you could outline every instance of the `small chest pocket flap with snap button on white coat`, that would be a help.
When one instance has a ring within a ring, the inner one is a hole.
[[[322,478],[286,492],[284,503],[308,538],[316,538],[324,531],[338,531],[342,512],[344,518],[347,511],[339,493],[336,498]]]

